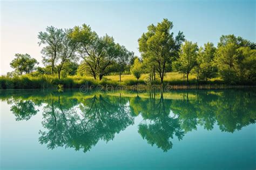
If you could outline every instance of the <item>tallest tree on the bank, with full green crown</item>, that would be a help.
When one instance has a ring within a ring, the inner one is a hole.
[[[157,25],[149,25],[148,31],[138,39],[142,57],[148,57],[151,62],[156,63],[156,71],[161,79],[161,84],[163,84],[166,65],[178,56],[180,45],[185,40],[183,32],[180,31],[174,38],[174,33],[170,32],[172,28],[172,22],[164,19]]]

